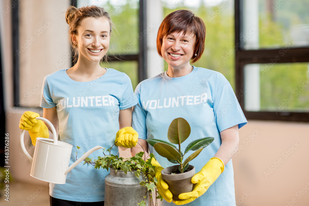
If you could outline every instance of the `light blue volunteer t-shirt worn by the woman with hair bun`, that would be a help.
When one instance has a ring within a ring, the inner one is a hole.
[[[102,68],[103,69],[103,68]],[[119,110],[137,103],[130,78],[115,69],[107,69],[100,78],[90,82],[76,82],[59,70],[44,78],[41,103],[44,108],[57,107],[60,141],[73,145],[70,165],[96,145],[110,148],[119,130]],[[103,156],[103,149],[91,153],[90,158]],[[113,146],[112,154],[118,153]],[[79,163],[68,174],[65,184],[49,183],[52,197],[79,201],[104,201],[106,170]]]

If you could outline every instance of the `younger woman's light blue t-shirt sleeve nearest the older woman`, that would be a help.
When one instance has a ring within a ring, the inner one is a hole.
[[[137,100],[133,92],[132,83],[129,76],[125,74],[121,85],[121,101],[119,109],[124,110],[133,107],[135,104],[137,104]]]

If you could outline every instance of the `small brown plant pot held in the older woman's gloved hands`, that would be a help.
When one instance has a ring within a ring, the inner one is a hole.
[[[184,192],[191,192],[193,189],[193,183],[191,182],[191,178],[195,174],[195,167],[189,165],[188,172],[180,173],[180,174],[171,174],[178,170],[179,165],[170,166],[164,168],[161,171],[162,178],[168,184],[168,189],[173,194],[173,200],[180,200],[178,195]]]

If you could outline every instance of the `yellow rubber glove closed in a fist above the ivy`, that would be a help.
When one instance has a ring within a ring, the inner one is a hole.
[[[118,142],[117,142],[118,141]],[[125,127],[116,133],[116,146],[125,148],[135,147],[138,141],[138,133],[132,127]]]

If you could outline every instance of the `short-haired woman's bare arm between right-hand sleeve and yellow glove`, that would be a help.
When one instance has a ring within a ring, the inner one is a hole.
[[[234,153],[238,149],[238,125],[223,130],[222,132],[220,132],[220,135],[222,144],[214,157],[221,159],[223,164],[226,165],[227,162],[229,162],[232,158],[232,153]]]

